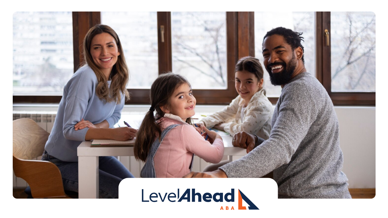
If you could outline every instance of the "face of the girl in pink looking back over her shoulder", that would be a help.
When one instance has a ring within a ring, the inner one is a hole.
[[[195,114],[196,99],[192,95],[191,87],[184,83],[175,89],[175,92],[170,97],[170,106],[162,107],[165,113],[179,116],[184,121]]]

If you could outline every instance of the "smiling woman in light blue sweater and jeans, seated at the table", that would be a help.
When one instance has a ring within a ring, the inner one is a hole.
[[[64,87],[54,127],[42,155],[56,164],[65,190],[78,192],[77,147],[92,139],[130,140],[137,130],[113,128],[120,117],[129,72],[116,32],[97,24],[83,40],[84,63]],[[99,157],[99,197],[118,198],[118,185],[133,175],[114,157]]]

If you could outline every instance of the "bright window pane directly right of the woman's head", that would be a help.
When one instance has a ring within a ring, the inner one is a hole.
[[[127,88],[149,89],[158,77],[156,12],[101,12],[101,23],[120,38],[130,72]]]

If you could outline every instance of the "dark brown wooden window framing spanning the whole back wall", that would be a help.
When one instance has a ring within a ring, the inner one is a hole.
[[[330,29],[330,12],[315,12],[316,77],[334,105],[376,105],[375,92],[331,92],[331,47],[325,46],[324,29]],[[159,73],[172,71],[171,12],[158,12]],[[87,31],[100,23],[100,12],[73,12],[74,72],[83,62],[81,45]],[[160,26],[165,26],[165,42],[161,42]],[[227,89],[193,90],[197,104],[229,104],[238,94],[234,88],[234,67],[239,58],[255,56],[254,12],[226,12]],[[149,104],[149,89],[128,89],[131,99],[126,104]],[[17,103],[59,103],[62,96],[13,95]],[[268,98],[272,104],[276,97]]]

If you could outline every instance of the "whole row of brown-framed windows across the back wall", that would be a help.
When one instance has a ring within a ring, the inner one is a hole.
[[[237,96],[238,59],[262,61],[263,36],[284,26],[303,32],[306,69],[335,105],[375,105],[372,12],[16,12],[13,19],[14,102],[59,102],[83,62],[83,38],[103,23],[123,44],[131,74],[127,104],[148,104],[150,85],[166,71],[191,81],[197,104],[229,104]],[[275,103],[281,88],[264,76]]]

